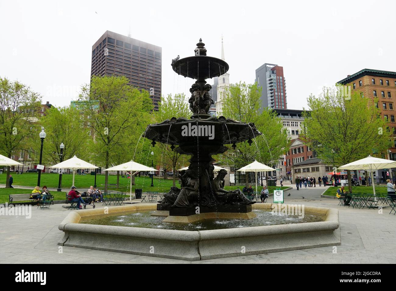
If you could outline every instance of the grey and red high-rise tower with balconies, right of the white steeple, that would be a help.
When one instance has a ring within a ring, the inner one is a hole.
[[[261,92],[261,109],[269,107],[272,109],[286,109],[286,82],[283,67],[275,64],[265,63],[256,69],[258,87],[263,87]]]

